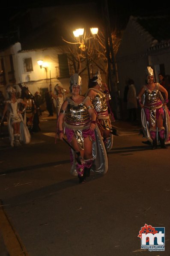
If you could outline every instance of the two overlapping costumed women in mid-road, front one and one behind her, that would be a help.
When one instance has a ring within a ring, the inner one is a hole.
[[[57,120],[57,134],[60,140],[67,136],[70,145],[72,175],[84,183],[90,171],[104,174],[108,169],[107,151],[112,148],[113,135],[108,114],[109,91],[101,89],[100,72],[89,82],[85,96],[81,95],[81,77],[70,78],[71,96],[63,102]],[[94,87],[94,89],[93,89]],[[65,139],[64,139],[65,140]]]

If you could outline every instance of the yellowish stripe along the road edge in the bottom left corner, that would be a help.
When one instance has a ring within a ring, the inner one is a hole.
[[[6,213],[3,210],[3,205],[0,200],[0,231],[3,235],[4,243],[10,256],[29,256],[24,244],[15,229],[12,227]]]

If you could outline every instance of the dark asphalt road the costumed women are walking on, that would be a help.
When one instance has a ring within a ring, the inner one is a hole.
[[[1,139],[0,230],[10,255],[170,255],[170,147],[153,151],[139,127],[119,124],[108,172],[86,184],[69,173],[69,147],[54,143],[56,120],[41,120],[29,145]],[[145,224],[165,228],[165,251],[141,250]]]

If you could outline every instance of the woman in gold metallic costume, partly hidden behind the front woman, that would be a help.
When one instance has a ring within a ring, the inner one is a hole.
[[[101,132],[101,136],[104,139],[104,145],[107,152],[113,147],[113,134],[111,133],[112,126],[111,120],[108,113],[108,102],[111,99],[107,85],[104,83],[103,91],[101,89],[101,75],[98,69],[95,77],[89,81],[89,89],[86,92],[86,96],[89,96],[92,100],[92,105],[95,108],[97,114],[97,124]]]

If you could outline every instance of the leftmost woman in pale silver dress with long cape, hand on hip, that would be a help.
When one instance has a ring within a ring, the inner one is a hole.
[[[9,140],[11,146],[18,147],[21,143],[28,144],[30,142],[30,133],[24,123],[21,113],[25,113],[27,108],[27,103],[23,99],[17,99],[15,96],[16,90],[12,86],[7,87],[7,92],[9,94],[9,100],[6,101],[6,105],[3,111],[3,117],[8,111],[7,122],[9,131]],[[19,105],[24,105],[22,111],[19,110]],[[3,117],[1,122],[3,122]]]

